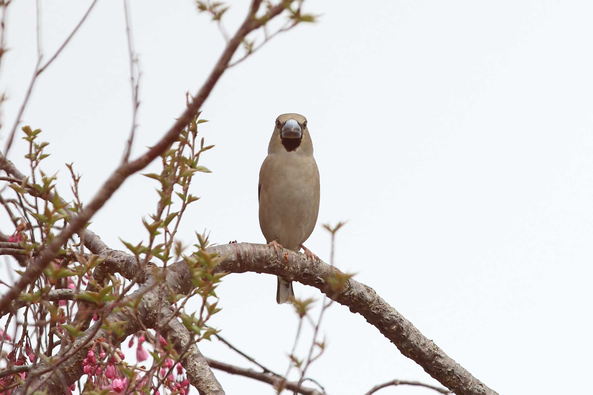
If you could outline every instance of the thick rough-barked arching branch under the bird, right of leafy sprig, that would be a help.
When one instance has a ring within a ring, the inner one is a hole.
[[[277,252],[266,244],[233,243],[213,246],[208,251],[227,256],[219,264],[219,271],[275,274],[287,281],[298,281],[318,288],[333,300],[349,307],[353,313],[365,317],[368,323],[377,327],[397,346],[401,354],[415,361],[455,394],[497,394],[422,335],[371,287],[350,278],[342,291],[336,294],[328,279],[343,274],[334,266],[320,260],[312,262],[304,254],[286,249]]]

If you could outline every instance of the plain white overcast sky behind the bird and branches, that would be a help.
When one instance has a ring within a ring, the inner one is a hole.
[[[43,1],[46,59],[90,2]],[[231,2],[234,32],[248,2]],[[157,141],[196,92],[224,41],[189,0],[132,1],[142,68],[133,156]],[[195,178],[202,199],[179,235],[264,242],[257,179],[277,115],[305,115],[321,175],[318,225],[305,245],[329,261],[323,223],[347,220],[336,263],[358,273],[429,339],[499,393],[584,393],[591,368],[593,2],[315,1],[323,14],[228,70],[203,106],[215,149]],[[4,147],[36,61],[33,0],[12,3],[2,59]],[[261,37],[261,36],[258,36]],[[34,88],[23,123],[51,144],[43,170],[66,162],[90,200],[122,156],[131,121],[122,2],[100,0]],[[9,159],[26,171],[25,142]],[[158,169],[157,163],[150,166]],[[146,240],[154,181],[132,176],[94,217],[111,247]],[[0,230],[12,232],[2,214]],[[226,338],[285,371],[297,329],[275,302],[276,279],[241,274],[219,288]],[[315,296],[295,284],[298,297]],[[329,348],[310,370],[329,394],[362,394],[399,378],[438,384],[343,306],[323,323]],[[310,339],[310,332],[305,333]],[[248,367],[220,342],[208,357]],[[305,344],[301,348],[304,352]],[[272,394],[215,372],[228,394]],[[194,390],[195,391],[195,390]],[[427,393],[388,388],[381,393]]]

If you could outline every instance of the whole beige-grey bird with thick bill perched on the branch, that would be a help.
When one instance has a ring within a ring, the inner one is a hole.
[[[278,115],[262,163],[257,186],[259,223],[266,243],[274,248],[304,250],[302,244],[315,228],[319,213],[319,170],[313,158],[313,142],[307,118],[301,114]],[[294,300],[292,282],[278,276],[276,303]]]

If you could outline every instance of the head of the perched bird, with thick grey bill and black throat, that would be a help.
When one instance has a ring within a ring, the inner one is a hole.
[[[280,149],[280,146],[288,152],[301,149],[313,154],[313,144],[307,129],[307,118],[294,113],[278,115],[269,148]]]

